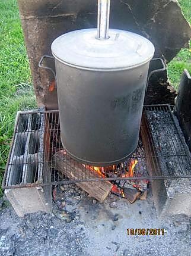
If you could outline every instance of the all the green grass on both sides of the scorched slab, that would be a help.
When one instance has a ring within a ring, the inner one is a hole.
[[[191,22],[191,1],[179,0],[185,17]],[[8,157],[15,114],[36,107],[31,85],[23,32],[16,0],[0,0],[0,195],[1,182]],[[174,86],[179,84],[184,68],[191,73],[190,52],[182,49],[168,64],[168,75]]]

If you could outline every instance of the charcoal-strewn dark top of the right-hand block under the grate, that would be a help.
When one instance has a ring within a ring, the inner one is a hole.
[[[163,175],[189,175],[190,159],[187,157],[189,149],[176,116],[174,115],[173,120],[171,113],[164,110],[147,110],[145,113]]]

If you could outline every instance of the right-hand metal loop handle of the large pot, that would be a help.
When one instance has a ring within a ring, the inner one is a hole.
[[[161,58],[154,58],[150,61],[150,66],[149,66],[149,74],[148,74],[148,78],[147,78],[147,86],[148,86],[148,82],[149,79],[151,78],[152,74],[157,73],[157,72],[161,72],[166,70],[164,61]],[[147,90],[147,87],[146,87]]]

